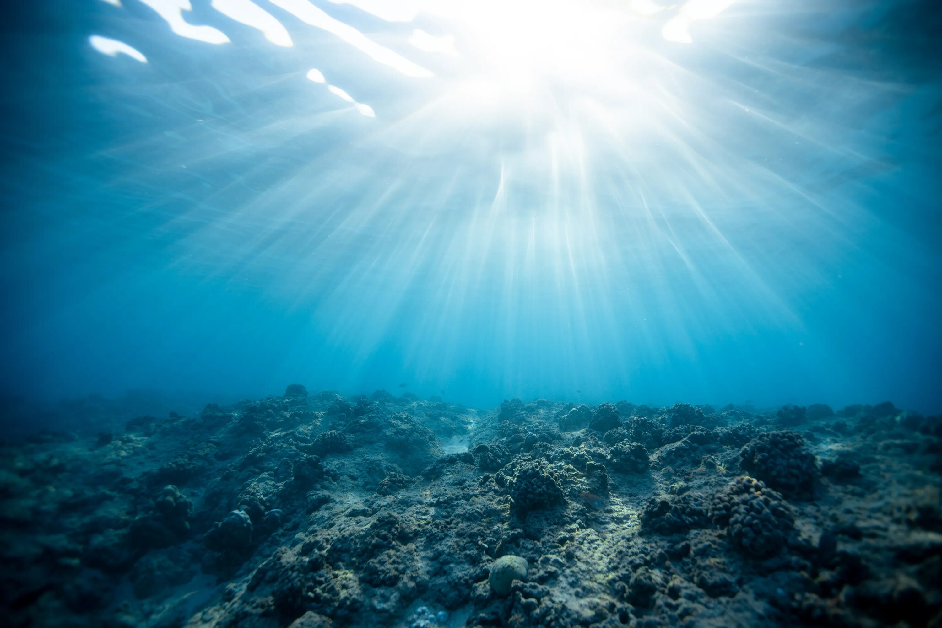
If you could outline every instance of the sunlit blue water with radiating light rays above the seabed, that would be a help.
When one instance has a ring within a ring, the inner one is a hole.
[[[934,3],[117,4],[4,8],[3,395],[942,410]]]

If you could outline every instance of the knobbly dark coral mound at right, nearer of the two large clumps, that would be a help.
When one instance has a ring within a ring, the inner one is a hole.
[[[747,555],[761,558],[778,552],[794,527],[791,507],[763,482],[741,476],[713,498],[710,516],[726,525],[732,543]]]

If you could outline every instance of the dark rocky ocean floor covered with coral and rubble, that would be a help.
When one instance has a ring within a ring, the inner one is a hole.
[[[292,385],[3,443],[0,625],[942,626],[940,473],[888,403]]]

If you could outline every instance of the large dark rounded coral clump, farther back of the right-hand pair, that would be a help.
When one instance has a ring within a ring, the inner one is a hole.
[[[772,489],[796,495],[810,493],[818,475],[804,438],[788,430],[756,436],[739,451],[739,465]]]

